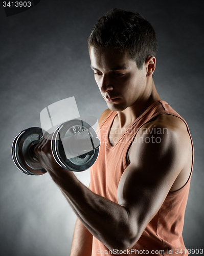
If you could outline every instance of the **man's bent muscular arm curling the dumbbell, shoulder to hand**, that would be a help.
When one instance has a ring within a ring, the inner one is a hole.
[[[130,164],[118,186],[118,204],[96,195],[73,172],[59,167],[52,160],[49,137],[36,148],[41,165],[63,191],[77,217],[110,250],[126,250],[138,241],[192,152],[188,132],[180,122],[165,126],[168,134],[152,133],[152,128],[163,129],[161,123],[149,125],[148,131],[137,136],[150,142],[131,146]],[[160,138],[161,143],[153,143],[152,136]]]

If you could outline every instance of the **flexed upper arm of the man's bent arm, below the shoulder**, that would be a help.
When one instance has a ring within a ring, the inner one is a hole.
[[[145,138],[150,136],[144,135],[144,141]],[[161,143],[138,143],[133,147],[130,164],[118,186],[118,203],[126,207],[129,221],[133,227],[137,226],[140,236],[182,169],[175,134],[160,138]]]

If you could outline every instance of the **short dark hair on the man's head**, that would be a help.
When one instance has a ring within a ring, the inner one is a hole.
[[[150,56],[156,56],[157,38],[151,24],[139,13],[112,9],[101,16],[88,38],[90,47],[127,50],[142,69]]]

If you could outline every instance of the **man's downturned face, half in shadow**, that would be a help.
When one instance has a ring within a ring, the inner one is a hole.
[[[91,68],[108,108],[123,111],[140,101],[146,90],[146,66],[139,70],[128,53],[112,48],[89,50]]]

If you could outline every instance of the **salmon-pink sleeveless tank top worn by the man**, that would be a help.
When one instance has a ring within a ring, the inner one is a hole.
[[[121,175],[127,167],[126,155],[128,148],[140,127],[155,116],[161,114],[173,115],[182,119],[186,124],[187,131],[191,138],[186,121],[178,115],[167,102],[160,100],[150,105],[149,108],[128,127],[115,146],[112,146],[109,143],[108,136],[117,112],[110,112],[100,126],[101,145],[99,157],[90,168],[90,189],[94,193],[118,203],[117,189]],[[193,157],[191,175],[192,169]],[[160,210],[158,210],[157,214],[149,222],[138,242],[132,247],[132,250],[126,251],[120,255],[188,255],[188,250],[184,245],[182,231],[191,175],[182,188],[167,195]],[[116,252],[117,251],[112,251],[111,253],[106,246],[93,237],[92,256],[114,255]]]

